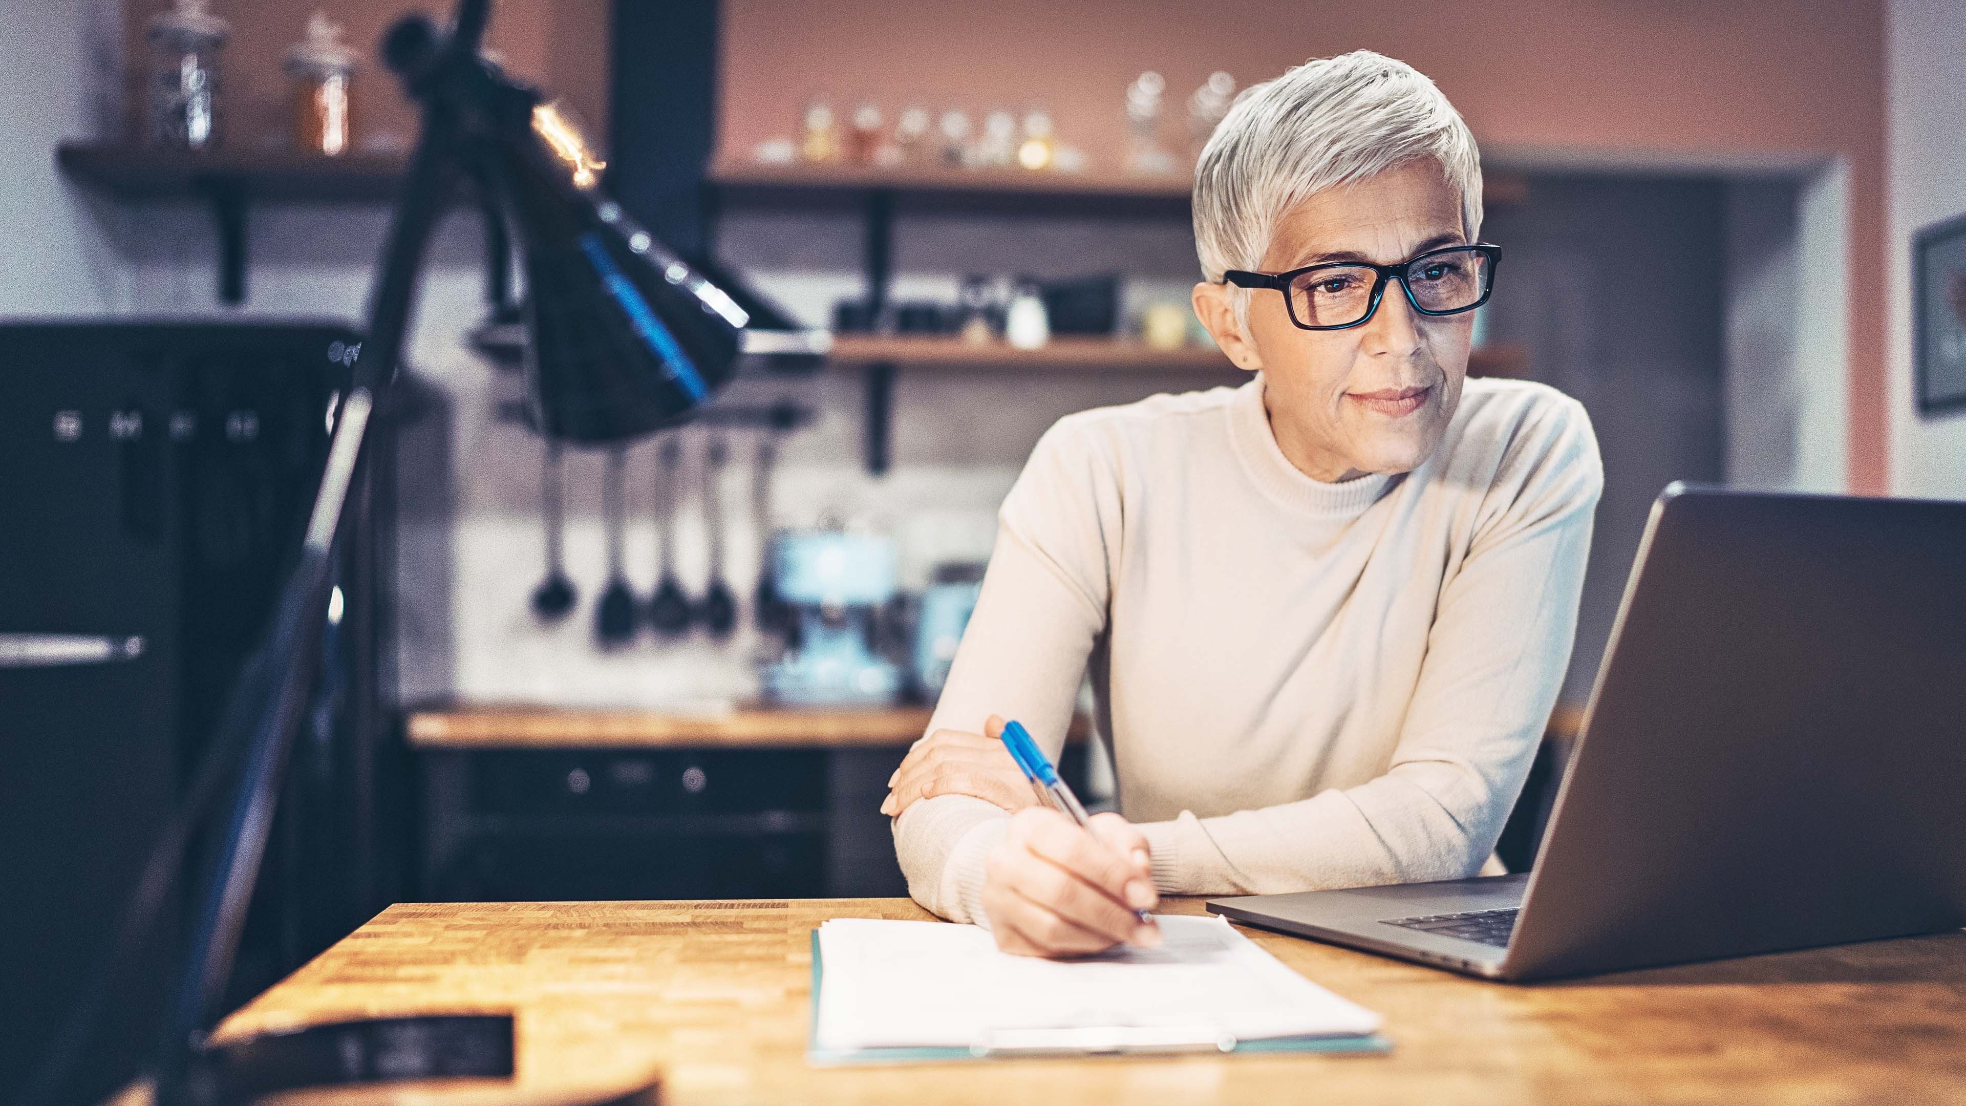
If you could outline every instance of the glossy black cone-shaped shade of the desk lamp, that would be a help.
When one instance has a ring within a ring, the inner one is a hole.
[[[682,423],[735,374],[751,313],[600,193],[604,165],[552,102],[499,144],[527,276],[529,417],[576,443]]]

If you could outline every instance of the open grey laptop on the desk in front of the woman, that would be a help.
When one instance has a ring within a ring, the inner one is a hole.
[[[1966,502],[1669,486],[1528,874],[1211,899],[1496,980],[1966,925]]]

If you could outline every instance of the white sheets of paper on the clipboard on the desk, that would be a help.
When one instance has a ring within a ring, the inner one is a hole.
[[[1195,1037],[1233,1047],[1276,1037],[1362,1037],[1380,1017],[1286,968],[1219,917],[1160,915],[1166,943],[1077,960],[997,951],[973,925],[836,919],[818,931],[824,1053],[1012,1041],[1060,1047]],[[1144,1033],[1144,1035],[1142,1035]]]

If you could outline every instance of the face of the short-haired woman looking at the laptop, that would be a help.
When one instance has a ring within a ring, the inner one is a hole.
[[[1461,197],[1431,159],[1313,193],[1278,224],[1258,266],[1280,274],[1321,262],[1410,260],[1467,242]],[[1396,281],[1360,327],[1303,331],[1284,295],[1248,293],[1248,338],[1223,285],[1195,285],[1195,311],[1244,370],[1262,370],[1278,447],[1317,480],[1410,472],[1461,403],[1474,315],[1419,315]]]

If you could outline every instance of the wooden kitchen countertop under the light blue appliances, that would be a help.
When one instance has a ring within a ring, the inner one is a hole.
[[[458,707],[415,710],[409,746],[444,750],[566,748],[893,748],[928,728],[926,707],[739,707],[725,712]],[[1071,724],[1071,740],[1089,730]]]

